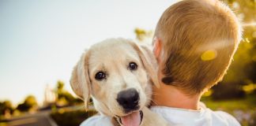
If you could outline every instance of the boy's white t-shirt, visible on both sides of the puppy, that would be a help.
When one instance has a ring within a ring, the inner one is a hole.
[[[170,126],[240,126],[230,114],[201,107],[200,110],[178,109],[165,106],[152,106]],[[111,117],[96,115],[85,120],[81,126],[112,126]]]

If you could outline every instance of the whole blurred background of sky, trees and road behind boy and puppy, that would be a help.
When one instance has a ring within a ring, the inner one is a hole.
[[[79,125],[85,111],[70,88],[73,66],[93,43],[123,37],[151,43],[179,0],[0,1],[0,126]],[[256,0],[223,0],[243,21],[243,41],[224,80],[202,102],[256,125]]]

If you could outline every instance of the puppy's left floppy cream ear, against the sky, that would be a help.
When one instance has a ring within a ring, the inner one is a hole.
[[[88,51],[82,54],[77,65],[73,68],[70,85],[74,93],[85,102],[85,109],[88,109],[90,99],[91,81],[88,76]]]

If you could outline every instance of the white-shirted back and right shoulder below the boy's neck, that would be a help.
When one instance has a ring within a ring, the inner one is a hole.
[[[240,126],[239,122],[232,115],[223,111],[213,111],[206,107],[200,110],[178,109],[165,106],[153,106],[152,111],[159,113],[174,125],[218,125],[218,126]]]

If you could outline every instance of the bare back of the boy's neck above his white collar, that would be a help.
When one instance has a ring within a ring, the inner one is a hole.
[[[200,109],[200,95],[186,95],[176,87],[160,83],[160,88],[154,87],[152,106],[168,106],[180,109]]]

